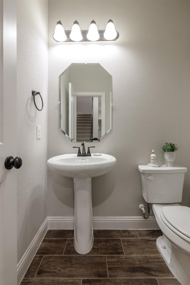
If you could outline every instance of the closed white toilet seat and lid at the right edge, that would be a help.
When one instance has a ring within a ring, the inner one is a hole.
[[[164,224],[190,243],[190,208],[185,206],[165,206],[160,210]]]

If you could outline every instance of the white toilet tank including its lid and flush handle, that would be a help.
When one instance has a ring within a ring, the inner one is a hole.
[[[186,167],[139,165],[143,198],[148,203],[177,203],[182,200]]]

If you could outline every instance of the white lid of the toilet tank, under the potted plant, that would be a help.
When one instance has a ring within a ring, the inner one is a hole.
[[[143,173],[179,173],[179,172],[187,172],[186,167],[182,166],[159,166],[159,167],[151,167],[148,165],[139,165],[138,170]]]

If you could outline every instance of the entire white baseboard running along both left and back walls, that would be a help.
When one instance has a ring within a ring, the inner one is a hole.
[[[159,229],[155,217],[93,217],[94,229]],[[74,229],[74,217],[47,217],[17,265],[20,284],[47,229]]]

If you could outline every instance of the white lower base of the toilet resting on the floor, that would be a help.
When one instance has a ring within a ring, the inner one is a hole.
[[[164,235],[157,238],[156,246],[175,278],[182,285],[189,285],[190,255],[173,246]]]

